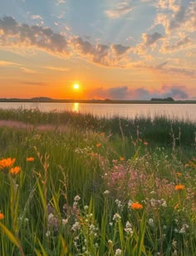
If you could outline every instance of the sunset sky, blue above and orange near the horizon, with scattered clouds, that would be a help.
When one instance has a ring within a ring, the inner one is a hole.
[[[0,98],[39,96],[196,100],[196,1],[0,0]]]

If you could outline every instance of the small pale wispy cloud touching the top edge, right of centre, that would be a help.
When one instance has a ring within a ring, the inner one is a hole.
[[[106,15],[108,17],[112,18],[118,18],[120,16],[124,16],[125,14],[129,13],[132,11],[132,7],[130,5],[130,2],[120,2],[117,7],[111,10],[105,11]]]

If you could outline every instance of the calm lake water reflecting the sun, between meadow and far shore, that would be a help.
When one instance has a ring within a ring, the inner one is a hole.
[[[11,103],[0,102],[0,108],[23,108],[40,111],[74,111],[91,113],[94,116],[120,116],[135,118],[135,116],[166,116],[169,119],[196,121],[196,104],[91,104],[91,103]],[[0,116],[1,118],[1,116]]]

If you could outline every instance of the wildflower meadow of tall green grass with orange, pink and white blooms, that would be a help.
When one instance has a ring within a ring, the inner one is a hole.
[[[196,255],[194,123],[0,119],[29,125],[0,127],[1,255]]]

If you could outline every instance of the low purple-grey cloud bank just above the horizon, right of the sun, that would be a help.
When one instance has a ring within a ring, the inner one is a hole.
[[[90,99],[110,99],[110,100],[143,100],[148,101],[151,98],[173,97],[175,100],[188,99],[185,86],[162,86],[158,90],[148,90],[143,87],[131,88],[130,86],[119,86],[105,88],[96,88],[88,92]]]

